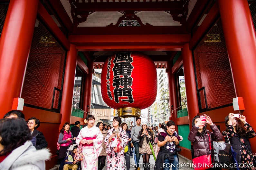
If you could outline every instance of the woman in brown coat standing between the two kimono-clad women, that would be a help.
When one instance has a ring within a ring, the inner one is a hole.
[[[104,128],[103,123],[98,122],[96,126],[100,128],[100,132],[103,134],[103,140],[104,140],[105,137],[107,136],[107,131],[103,129]],[[107,156],[107,153],[106,153],[107,146],[104,142],[102,142],[102,147],[103,149],[100,153],[100,156],[98,157],[98,170],[102,170],[103,167],[105,166],[105,161]]]

